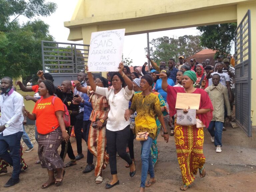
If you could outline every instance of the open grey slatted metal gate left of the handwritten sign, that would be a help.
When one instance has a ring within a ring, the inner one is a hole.
[[[77,73],[85,70],[90,45],[54,41],[42,41],[41,45],[43,71],[51,73],[55,86],[65,79],[76,80]]]

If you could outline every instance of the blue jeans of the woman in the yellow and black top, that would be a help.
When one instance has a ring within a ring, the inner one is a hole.
[[[146,141],[141,141],[140,144],[142,146],[142,152],[141,152],[141,184],[140,187],[145,187],[145,183],[147,180],[148,171],[150,174],[150,178],[155,177],[153,163],[152,163],[152,157],[151,157],[151,145],[153,143],[153,139],[151,137],[148,137]]]

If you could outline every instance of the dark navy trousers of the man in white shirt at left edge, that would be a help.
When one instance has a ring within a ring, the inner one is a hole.
[[[20,175],[20,140],[22,134],[22,131],[5,136],[0,134],[0,157],[13,166],[13,179],[18,179]]]

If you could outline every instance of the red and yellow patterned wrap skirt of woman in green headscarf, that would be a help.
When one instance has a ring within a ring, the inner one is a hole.
[[[175,118],[174,139],[183,184],[190,185],[205,163],[203,127],[178,125]]]

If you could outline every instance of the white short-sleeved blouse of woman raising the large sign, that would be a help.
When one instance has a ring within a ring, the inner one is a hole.
[[[108,130],[120,131],[130,124],[130,121],[125,120],[124,113],[129,108],[129,100],[132,98],[133,90],[129,90],[126,86],[114,94],[114,89],[108,90],[108,88],[97,86],[95,93],[106,96],[108,99],[110,106],[106,125]]]

